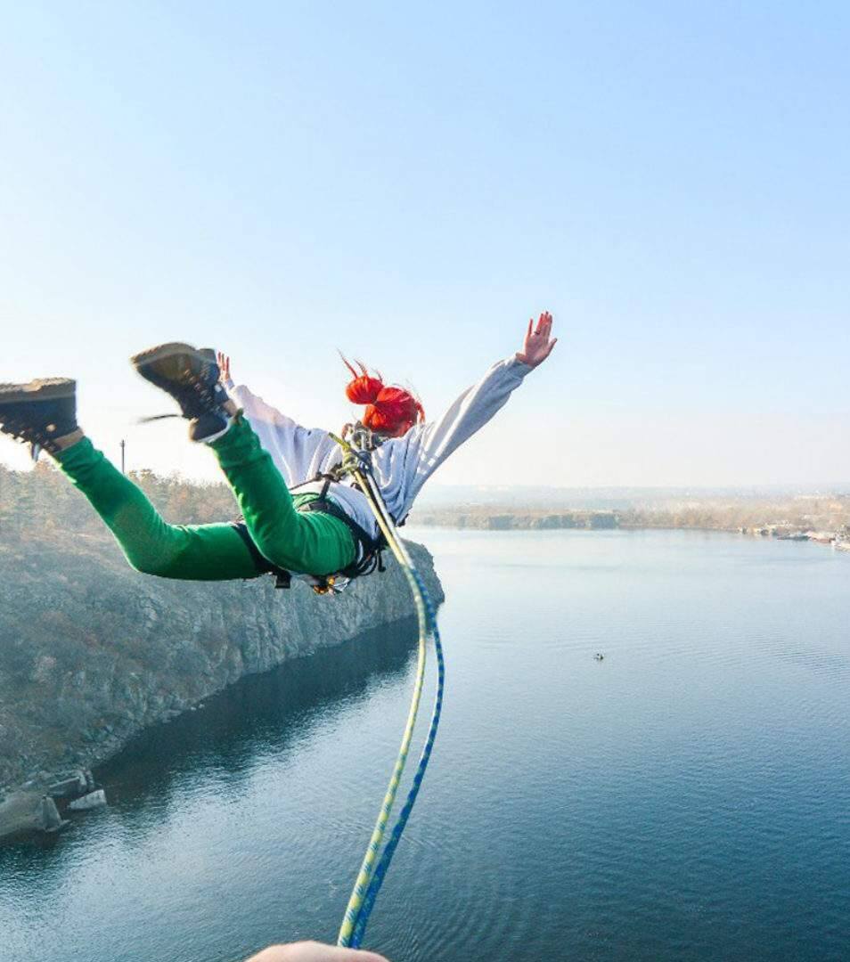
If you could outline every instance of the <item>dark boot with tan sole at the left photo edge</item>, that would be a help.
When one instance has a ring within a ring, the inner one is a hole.
[[[30,444],[34,460],[42,448],[57,454],[56,439],[77,430],[76,390],[67,377],[0,384],[0,432]]]

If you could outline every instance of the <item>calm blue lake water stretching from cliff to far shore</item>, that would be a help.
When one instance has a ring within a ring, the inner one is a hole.
[[[446,706],[370,948],[850,959],[850,554],[415,534],[448,598]],[[145,736],[99,772],[107,810],[0,848],[0,959],[235,962],[334,941],[414,665],[407,625]]]

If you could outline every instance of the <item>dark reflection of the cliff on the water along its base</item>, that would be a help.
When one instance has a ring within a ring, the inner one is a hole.
[[[214,790],[225,804],[240,800],[251,772],[270,756],[280,763],[317,725],[332,722],[376,688],[401,681],[417,639],[415,619],[375,628],[345,645],[249,675],[203,707],[147,729],[94,770],[109,797],[111,831],[117,822],[128,840],[155,834],[168,822],[175,800],[193,791],[199,771],[205,772],[205,791]],[[98,835],[96,815],[68,817],[71,833]],[[0,877],[13,869],[43,873],[39,884],[49,888],[51,866],[62,868],[70,838],[39,833],[0,845]],[[61,879],[60,872],[54,880]]]

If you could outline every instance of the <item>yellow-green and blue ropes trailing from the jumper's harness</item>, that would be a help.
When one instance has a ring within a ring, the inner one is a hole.
[[[440,722],[440,714],[443,706],[443,688],[445,682],[445,663],[443,659],[443,646],[440,642],[439,632],[437,631],[436,610],[427,594],[425,582],[422,575],[416,569],[406,546],[399,539],[396,533],[396,525],[390,517],[389,511],[384,504],[384,500],[372,475],[372,465],[369,456],[365,451],[358,450],[346,441],[331,435],[334,441],[340,444],[344,452],[343,471],[350,473],[363,494],[369,501],[369,506],[373,511],[375,521],[380,528],[384,539],[390,550],[395,555],[407,583],[413,595],[416,607],[417,620],[419,622],[419,651],[417,657],[416,679],[413,687],[413,696],[410,702],[410,710],[407,715],[407,722],[404,733],[401,737],[399,754],[396,764],[390,776],[386,794],[381,803],[378,817],[374,823],[372,837],[366,849],[360,871],[354,882],[348,905],[346,907],[343,924],[340,927],[337,945],[356,949],[360,946],[372,913],[374,900],[380,891],[381,884],[390,867],[393,854],[399,845],[401,833],[410,818],[413,804],[419,794],[425,777],[428,759],[434,745],[437,734],[437,726]],[[404,805],[399,813],[399,818],[393,826],[390,839],[384,847],[383,853],[378,860],[377,854],[386,834],[387,823],[390,813],[399,791],[399,782],[407,763],[407,755],[410,751],[410,743],[413,738],[413,731],[416,725],[416,718],[419,713],[419,705],[422,699],[423,688],[425,686],[425,650],[428,635],[434,638],[434,646],[437,657],[438,679],[437,692],[434,698],[434,709],[431,715],[431,722],[428,727],[428,734],[425,740],[425,747],[420,756],[419,765],[413,777],[413,783],[407,794]]]

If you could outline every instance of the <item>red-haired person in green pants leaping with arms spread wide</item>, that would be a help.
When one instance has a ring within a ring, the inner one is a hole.
[[[373,476],[397,524],[428,477],[499,411],[528,374],[549,357],[552,316],[528,322],[523,349],[490,368],[439,420],[425,421],[409,392],[385,386],[363,365],[348,365],[349,400],[367,405],[360,424],[372,432]],[[131,359],[151,384],[173,397],[190,421],[190,439],[206,443],[243,518],[215,524],[167,524],[142,490],[117,470],[76,420],[76,382],[42,378],[0,384],[0,432],[48,452],[112,531],[129,564],[165,578],[224,581],[277,573],[319,590],[367,573],[380,546],[364,494],[335,477],[343,451],[321,429],[296,424],[230,377],[230,362],[209,349],[168,343]],[[348,362],[346,362],[348,364]]]

